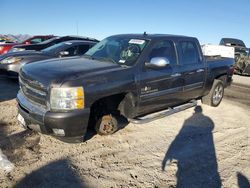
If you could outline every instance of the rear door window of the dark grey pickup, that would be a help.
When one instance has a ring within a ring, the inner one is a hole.
[[[194,42],[180,42],[181,64],[196,64],[199,63],[199,54],[197,46]]]

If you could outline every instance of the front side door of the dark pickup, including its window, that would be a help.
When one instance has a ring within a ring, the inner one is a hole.
[[[174,43],[170,40],[155,42],[146,62],[155,57],[168,59],[170,65],[160,69],[143,67],[140,73],[139,114],[161,110],[182,102],[183,78],[179,73]]]

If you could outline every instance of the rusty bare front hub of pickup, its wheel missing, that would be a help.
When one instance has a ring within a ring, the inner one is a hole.
[[[118,130],[117,117],[109,114],[99,118],[95,125],[95,130],[99,135],[110,135]]]

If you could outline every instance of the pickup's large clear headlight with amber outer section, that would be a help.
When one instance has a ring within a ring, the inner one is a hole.
[[[52,110],[75,110],[84,108],[84,90],[82,87],[52,88],[50,93]]]

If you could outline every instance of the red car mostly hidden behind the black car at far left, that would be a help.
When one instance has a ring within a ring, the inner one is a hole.
[[[16,42],[9,42],[5,44],[0,45],[0,55],[7,53],[13,46],[19,45],[19,44],[37,44],[43,41],[46,41],[48,39],[53,38],[53,35],[37,35],[33,36],[31,38],[28,38],[21,43],[16,43]]]

